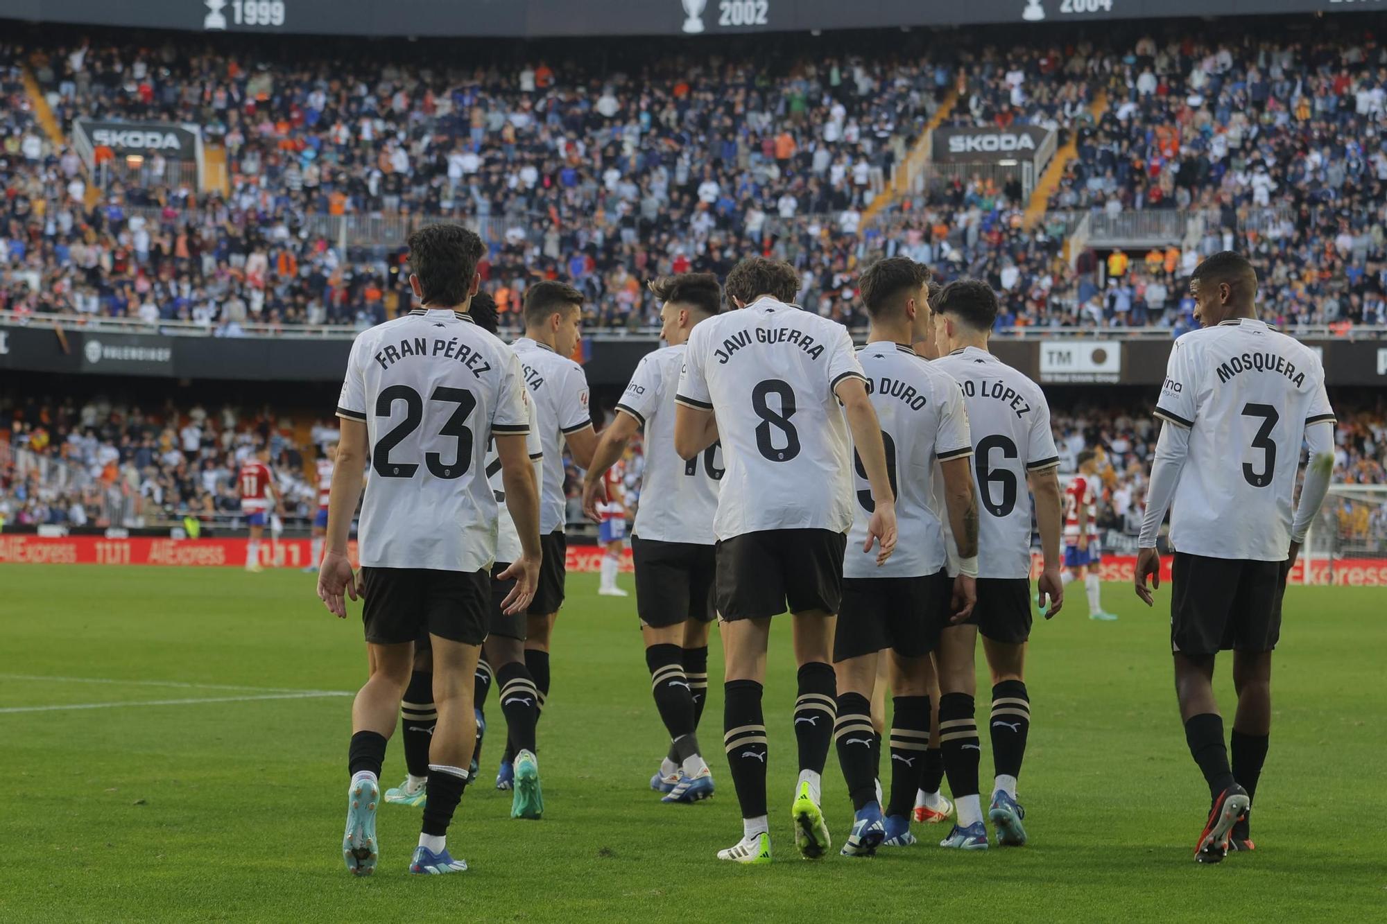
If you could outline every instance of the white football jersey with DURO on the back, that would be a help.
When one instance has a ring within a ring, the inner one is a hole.
[[[947,372],[896,343],[870,343],[857,351],[867,373],[867,391],[881,420],[886,472],[896,491],[896,551],[877,567],[877,549],[863,552],[867,520],[877,509],[861,458],[853,454],[853,497],[857,516],[847,533],[843,577],[922,577],[945,566],[947,516],[936,502],[935,459],[972,455],[968,412],[958,383]]]

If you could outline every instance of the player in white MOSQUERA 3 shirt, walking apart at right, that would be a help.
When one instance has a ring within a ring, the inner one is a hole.
[[[1194,859],[1252,849],[1247,813],[1272,726],[1272,649],[1286,576],[1319,513],[1334,468],[1334,409],[1319,357],[1257,319],[1257,272],[1233,251],[1190,276],[1201,330],[1171,350],[1155,405],[1164,420],[1151,461],[1136,594],[1160,587],[1157,534],[1171,512],[1171,649],[1184,738],[1214,802]],[[1301,441],[1309,447],[1291,515]],[[1233,649],[1233,760],[1214,698],[1214,659]]]

